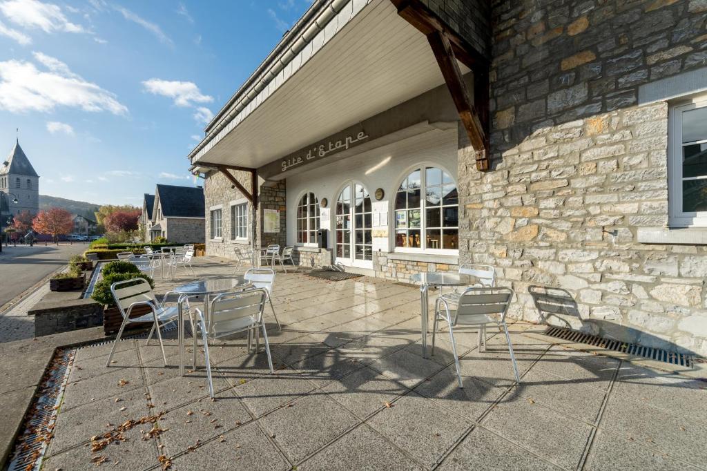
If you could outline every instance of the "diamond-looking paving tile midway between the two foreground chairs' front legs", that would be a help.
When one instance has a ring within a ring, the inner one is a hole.
[[[407,391],[402,385],[368,367],[332,381],[322,390],[361,419]]]

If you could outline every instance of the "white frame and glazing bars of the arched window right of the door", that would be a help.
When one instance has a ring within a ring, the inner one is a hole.
[[[452,182],[454,183],[455,187],[457,188],[457,198],[458,198],[458,192],[459,192],[459,184],[457,180],[455,180],[454,176],[452,175],[451,172],[449,172],[446,168],[444,168],[442,165],[435,163],[435,162],[423,162],[419,163],[418,165],[415,165],[414,167],[409,168],[400,178],[398,178],[396,185],[394,187],[394,190],[392,192],[392,197],[390,198],[390,214],[392,215],[390,217],[390,246],[392,247],[392,252],[398,252],[398,253],[428,253],[428,254],[437,254],[437,255],[452,255],[452,256],[458,256],[459,255],[459,248],[456,249],[434,249],[434,248],[427,248],[426,245],[426,238],[425,238],[425,232],[427,230],[427,211],[426,211],[426,200],[425,200],[425,195],[423,192],[423,189],[427,187],[427,175],[425,169],[431,167],[431,168],[438,168],[442,170],[444,173],[447,173],[450,175],[452,178]],[[420,248],[408,248],[408,247],[397,247],[395,245],[395,236],[396,236],[396,229],[397,227],[395,226],[395,221],[396,221],[396,209],[395,209],[395,199],[397,197],[397,192],[402,185],[403,180],[407,179],[408,176],[413,173],[415,170],[420,170],[420,241],[422,247]],[[459,209],[459,203],[457,202],[457,240],[460,240],[459,237],[459,218],[461,217],[461,211]],[[441,221],[440,221],[441,223]],[[450,229],[453,229],[453,227],[450,227]]]

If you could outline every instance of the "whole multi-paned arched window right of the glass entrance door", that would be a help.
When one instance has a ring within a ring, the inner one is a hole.
[[[400,183],[395,194],[395,247],[459,249],[459,195],[444,170],[417,168]]]

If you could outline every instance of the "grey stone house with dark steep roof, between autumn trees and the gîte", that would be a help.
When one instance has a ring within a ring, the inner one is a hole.
[[[156,185],[150,241],[158,236],[173,243],[204,243],[204,189]]]

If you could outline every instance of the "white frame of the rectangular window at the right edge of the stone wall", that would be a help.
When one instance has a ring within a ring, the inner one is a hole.
[[[670,227],[707,227],[707,211],[682,211],[682,114],[707,107],[707,95],[698,95],[687,103],[676,103],[668,115],[668,223]],[[696,144],[707,143],[706,139]],[[695,177],[691,180],[703,180]]]

